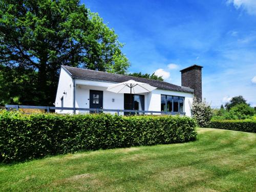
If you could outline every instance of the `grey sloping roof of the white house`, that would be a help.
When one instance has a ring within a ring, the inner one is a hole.
[[[65,68],[72,75],[73,78],[78,78],[78,79],[112,81],[112,82],[124,82],[128,80],[135,80],[139,82],[148,83],[151,86],[156,87],[158,89],[194,93],[193,89],[176,86],[175,84],[168,83],[165,81],[133,77],[129,75],[107,73],[102,71],[94,71],[89,69],[74,68],[69,66],[62,66],[62,67]]]

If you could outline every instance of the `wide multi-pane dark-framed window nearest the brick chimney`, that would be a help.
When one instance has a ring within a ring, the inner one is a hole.
[[[184,97],[161,95],[161,111],[184,112]]]

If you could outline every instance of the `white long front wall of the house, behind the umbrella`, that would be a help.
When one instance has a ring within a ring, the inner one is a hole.
[[[106,91],[107,87],[115,84],[116,82],[102,82],[91,80],[76,80],[76,107],[77,108],[90,108],[90,90],[103,91],[103,109],[120,109],[123,110],[124,96],[123,94],[112,93]],[[190,104],[193,101],[193,94],[160,90],[156,89],[150,93],[142,93],[145,97],[145,111],[161,111],[161,94],[185,97],[184,112],[187,116],[191,116]],[[112,102],[115,99],[115,102]],[[82,111],[77,113],[84,113]],[[114,114],[115,112],[113,112]],[[157,114],[157,113],[156,113]]]

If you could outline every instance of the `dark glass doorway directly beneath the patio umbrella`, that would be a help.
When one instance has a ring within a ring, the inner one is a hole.
[[[132,94],[132,103],[131,95],[124,93],[124,110],[138,110],[144,111],[144,95],[135,95]],[[125,112],[124,115],[134,115],[135,113]],[[139,113],[142,114],[142,113]]]

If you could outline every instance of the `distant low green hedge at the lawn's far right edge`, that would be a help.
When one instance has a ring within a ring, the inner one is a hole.
[[[256,133],[256,120],[211,120],[209,127],[216,129]]]

